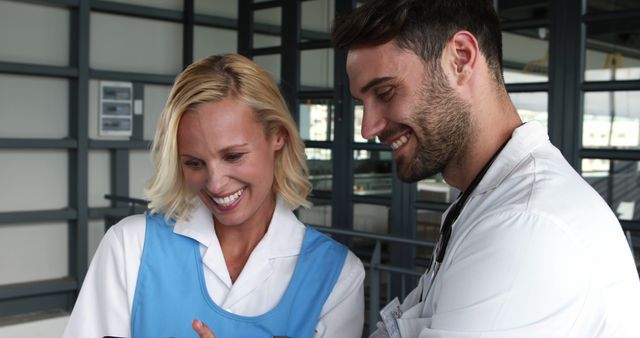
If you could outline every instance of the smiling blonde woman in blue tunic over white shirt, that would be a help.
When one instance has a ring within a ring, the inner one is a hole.
[[[64,336],[360,337],[362,263],[292,212],[309,204],[303,148],[256,63],[189,66],[153,141],[150,211],[105,234]]]

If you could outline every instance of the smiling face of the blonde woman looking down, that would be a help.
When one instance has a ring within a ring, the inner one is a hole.
[[[275,153],[283,145],[282,135],[265,135],[255,113],[232,96],[185,113],[178,127],[185,183],[216,226],[268,225],[275,208]]]

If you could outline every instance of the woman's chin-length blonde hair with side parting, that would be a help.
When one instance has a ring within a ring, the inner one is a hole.
[[[222,54],[191,64],[173,84],[151,146],[155,174],[145,188],[145,196],[150,200],[152,212],[164,213],[167,219],[188,218],[195,194],[186,187],[182,177],[178,124],[184,113],[228,96],[251,108],[267,137],[275,133],[285,137],[284,146],[276,153],[273,191],[292,210],[310,206],[306,200],[311,183],[304,142],[278,86],[255,62],[237,54]]]

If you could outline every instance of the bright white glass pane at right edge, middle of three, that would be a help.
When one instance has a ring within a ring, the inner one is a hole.
[[[585,93],[582,145],[639,148],[640,91]]]

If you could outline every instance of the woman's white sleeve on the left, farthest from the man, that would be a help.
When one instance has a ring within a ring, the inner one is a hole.
[[[132,220],[140,218],[133,216],[123,220],[111,227],[102,238],[82,284],[64,338],[131,336],[131,286],[135,288],[137,276],[131,280],[131,262],[127,266],[127,260],[131,260],[128,255],[132,251],[138,250],[127,250],[125,247],[127,238],[123,238],[122,225],[132,223]],[[144,229],[144,226],[137,228]],[[137,258],[133,262],[136,267],[139,266],[139,256]]]

